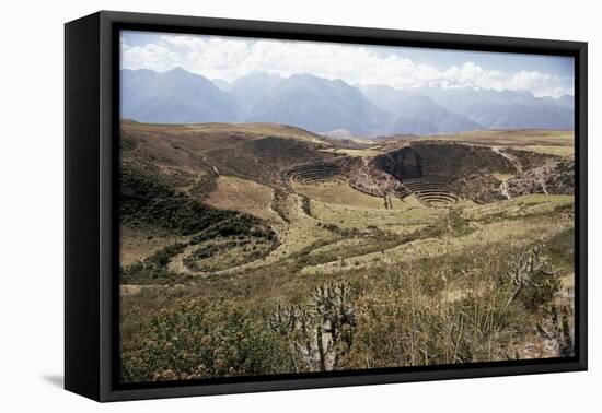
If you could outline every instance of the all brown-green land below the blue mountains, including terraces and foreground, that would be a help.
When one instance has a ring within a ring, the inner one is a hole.
[[[121,379],[571,355],[572,142],[124,120]]]

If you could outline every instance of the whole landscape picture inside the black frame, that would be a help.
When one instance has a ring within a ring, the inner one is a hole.
[[[574,56],[117,33],[119,384],[577,356]]]

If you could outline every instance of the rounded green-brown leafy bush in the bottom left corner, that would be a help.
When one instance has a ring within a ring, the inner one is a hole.
[[[229,302],[180,299],[121,349],[121,381],[290,373],[286,343]]]

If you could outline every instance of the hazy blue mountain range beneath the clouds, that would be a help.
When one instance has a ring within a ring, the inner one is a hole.
[[[350,85],[312,74],[251,73],[233,82],[182,68],[121,70],[121,118],[153,123],[275,122],[357,137],[477,129],[572,129],[574,97],[523,91]]]

